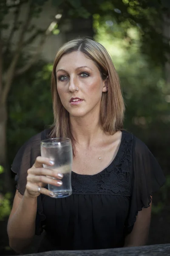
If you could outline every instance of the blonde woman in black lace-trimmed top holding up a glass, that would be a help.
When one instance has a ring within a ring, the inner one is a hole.
[[[39,252],[145,244],[152,193],[164,175],[147,146],[122,130],[124,102],[106,49],[88,38],[66,43],[54,61],[51,90],[53,128],[24,144],[12,165],[10,246],[21,253],[43,230]],[[53,165],[40,157],[40,140],[49,137],[72,141],[73,194],[66,198],[52,198],[46,186],[62,183],[62,174],[42,168]]]

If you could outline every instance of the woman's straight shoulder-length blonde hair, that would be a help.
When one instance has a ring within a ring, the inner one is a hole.
[[[95,62],[101,77],[108,77],[108,92],[102,93],[100,121],[103,131],[114,134],[122,129],[125,105],[119,83],[119,77],[105,47],[89,38],[76,38],[64,44],[57,52],[51,76],[51,93],[53,101],[54,125],[51,137],[68,137],[73,148],[75,140],[71,134],[69,113],[63,107],[57,92],[56,67],[63,55],[80,51]]]

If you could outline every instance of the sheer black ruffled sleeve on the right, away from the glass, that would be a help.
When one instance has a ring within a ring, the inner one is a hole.
[[[151,195],[164,184],[165,177],[156,158],[139,139],[134,137],[132,152],[132,195],[130,209],[125,225],[126,233],[130,233],[136,216],[142,208],[150,206]]]

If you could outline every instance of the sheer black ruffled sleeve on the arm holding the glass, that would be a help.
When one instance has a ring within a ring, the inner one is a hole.
[[[28,140],[17,152],[11,166],[11,170],[16,174],[15,180],[17,181],[16,188],[21,195],[24,195],[27,182],[27,171],[33,164],[40,153],[40,142],[44,132],[39,133]],[[42,208],[42,195],[37,197],[37,216],[36,216],[36,230],[35,234],[42,233],[42,224],[45,221],[45,215]]]

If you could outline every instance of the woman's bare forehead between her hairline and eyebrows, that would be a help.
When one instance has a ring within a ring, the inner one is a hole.
[[[59,69],[70,69],[87,66],[96,69],[96,63],[88,58],[83,52],[71,52],[62,56],[59,60],[56,71]],[[97,68],[98,69],[98,68]]]

